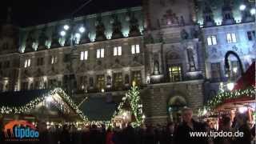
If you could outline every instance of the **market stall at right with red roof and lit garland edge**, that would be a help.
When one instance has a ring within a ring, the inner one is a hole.
[[[245,114],[251,125],[255,122],[255,62],[242,74],[233,90],[217,94],[206,106],[199,110],[199,115],[219,120],[223,114],[234,120],[236,113]]]

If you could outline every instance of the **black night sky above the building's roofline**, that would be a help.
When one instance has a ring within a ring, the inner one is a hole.
[[[1,0],[0,21],[6,19],[9,6],[12,9],[12,19],[18,26],[33,26],[61,20],[68,18],[86,1],[88,0]],[[93,0],[76,16],[141,5],[142,0]]]

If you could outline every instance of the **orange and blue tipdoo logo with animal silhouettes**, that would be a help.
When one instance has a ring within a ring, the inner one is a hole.
[[[37,128],[27,121],[10,121],[3,130],[6,141],[36,141],[39,138]]]

